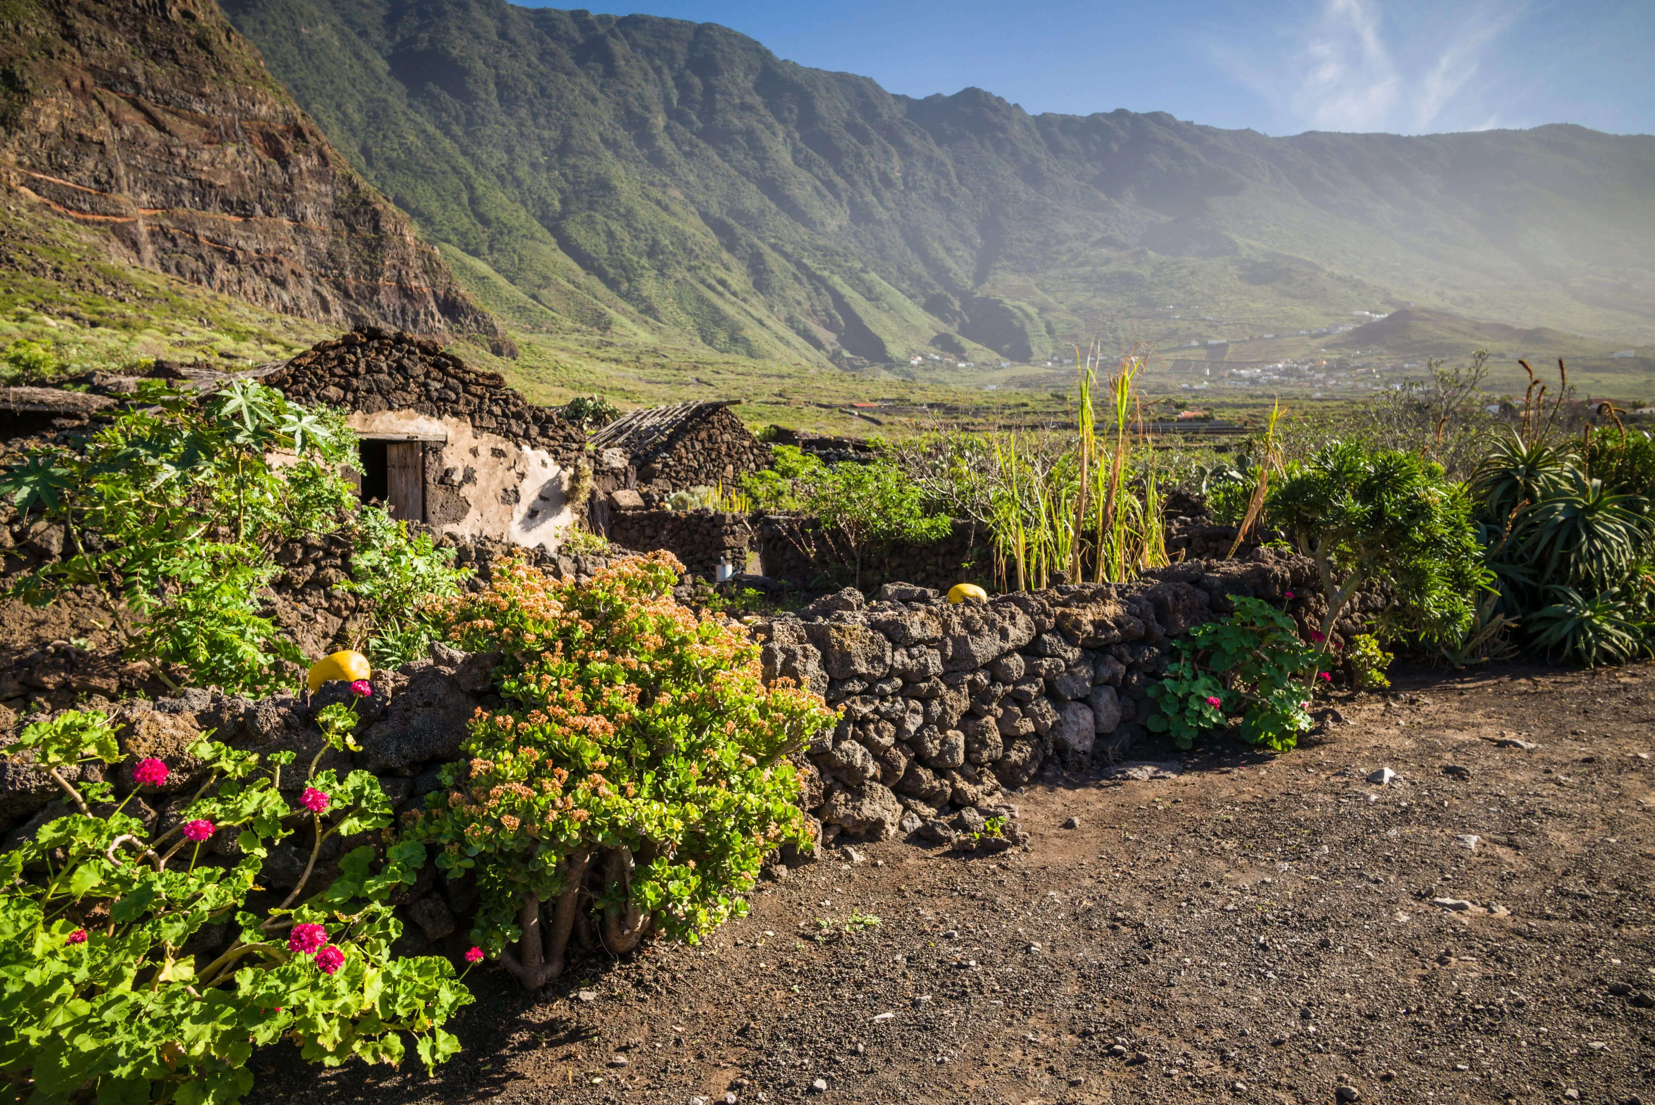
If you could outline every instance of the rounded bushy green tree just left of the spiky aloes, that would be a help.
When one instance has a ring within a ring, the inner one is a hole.
[[[1486,571],[1471,501],[1442,465],[1337,442],[1288,465],[1264,516],[1316,561],[1324,640],[1350,596],[1380,581],[1395,597],[1387,632],[1456,640],[1471,624]]]

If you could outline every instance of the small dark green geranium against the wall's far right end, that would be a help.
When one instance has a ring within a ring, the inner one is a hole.
[[[1145,725],[1190,748],[1208,729],[1235,723],[1250,744],[1288,751],[1311,729],[1322,652],[1299,640],[1293,619],[1263,599],[1236,599],[1235,614],[1173,642],[1173,662],[1150,685],[1160,706]]]

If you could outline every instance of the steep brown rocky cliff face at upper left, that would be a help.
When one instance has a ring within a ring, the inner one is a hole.
[[[505,346],[213,0],[0,7],[0,187],[263,308]]]

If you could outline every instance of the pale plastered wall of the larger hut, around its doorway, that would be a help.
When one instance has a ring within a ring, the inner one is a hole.
[[[566,500],[568,470],[544,450],[480,432],[463,419],[412,410],[353,414],[349,423],[362,437],[424,438],[427,448],[440,450],[440,463],[427,462],[427,473],[434,466],[439,473],[457,473],[450,490],[468,503],[463,518],[434,523],[444,533],[508,539],[554,552],[574,524]],[[427,503],[434,490],[427,476]]]

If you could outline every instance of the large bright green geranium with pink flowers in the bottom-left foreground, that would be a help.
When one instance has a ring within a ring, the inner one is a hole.
[[[329,746],[349,725],[336,720]],[[452,964],[389,951],[401,923],[386,898],[414,882],[424,849],[401,844],[377,870],[372,847],[354,849],[339,878],[306,897],[324,842],[391,824],[374,776],[341,779],[313,759],[290,807],[280,779],[291,753],[261,764],[202,739],[189,754],[204,781],[162,827],[129,812],[137,787],[167,781],[159,759],[132,766],[119,804],[109,782],[70,782],[66,768],[121,763],[104,715],[36,721],[5,754],[25,749],[76,812],[0,855],[0,1077],[12,1100],[227,1105],[253,1085],[253,1047],[283,1037],[324,1065],[397,1065],[405,1036],[427,1067],[458,1049],[442,1026],[470,994]],[[248,910],[270,849],[301,827],[313,837],[305,875],[280,905]],[[209,850],[222,840],[233,862]],[[197,951],[210,925],[238,933],[218,954]]]

